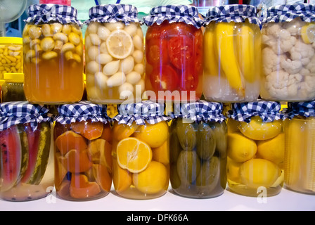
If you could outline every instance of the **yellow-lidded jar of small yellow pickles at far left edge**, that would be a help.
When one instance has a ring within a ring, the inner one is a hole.
[[[22,44],[20,37],[0,37],[0,79],[7,72],[23,72]]]

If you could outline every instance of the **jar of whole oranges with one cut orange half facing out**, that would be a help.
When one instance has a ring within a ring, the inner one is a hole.
[[[169,117],[162,103],[122,104],[113,118],[113,184],[129,199],[158,198],[169,186]]]

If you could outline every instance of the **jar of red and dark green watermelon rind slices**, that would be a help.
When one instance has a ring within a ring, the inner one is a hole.
[[[0,198],[29,201],[53,191],[51,117],[26,101],[0,105]]]

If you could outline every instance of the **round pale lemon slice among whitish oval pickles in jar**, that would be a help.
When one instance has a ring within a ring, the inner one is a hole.
[[[106,46],[110,56],[114,58],[127,58],[134,49],[134,44],[130,34],[124,30],[115,30],[106,39]]]

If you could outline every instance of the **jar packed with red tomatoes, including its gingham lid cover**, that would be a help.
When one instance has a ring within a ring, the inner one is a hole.
[[[196,101],[202,94],[203,32],[195,6],[156,6],[143,18],[146,94],[152,100]],[[149,92],[150,91],[150,92]]]

